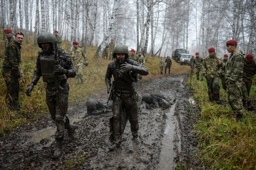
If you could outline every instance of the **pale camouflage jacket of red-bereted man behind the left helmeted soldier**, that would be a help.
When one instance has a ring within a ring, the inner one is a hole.
[[[88,59],[85,56],[85,53],[84,53],[83,49],[81,49],[79,47],[76,50],[74,48],[72,48],[72,50],[69,52],[69,54],[70,54],[70,56],[71,55],[75,55],[74,58],[71,58],[72,59],[72,63],[73,63],[73,65],[75,67],[83,65],[82,58],[84,59],[85,63],[88,63]]]

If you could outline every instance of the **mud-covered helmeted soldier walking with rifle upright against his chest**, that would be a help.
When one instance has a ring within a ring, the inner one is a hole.
[[[69,93],[67,79],[75,77],[75,69],[70,55],[63,49],[56,47],[56,38],[53,34],[41,33],[37,38],[37,44],[42,50],[38,53],[32,83],[25,92],[27,96],[30,96],[29,93],[41,76],[43,77],[43,82],[47,83],[46,103],[51,118],[57,126],[54,136],[56,148],[53,154],[53,159],[57,159],[62,154],[65,129],[67,129],[68,136],[71,139],[74,138],[76,129],[75,125],[69,124],[69,119],[66,116]]]

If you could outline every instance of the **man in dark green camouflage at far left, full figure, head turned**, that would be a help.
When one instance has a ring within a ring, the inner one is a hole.
[[[14,40],[10,40],[7,44],[2,64],[2,75],[7,88],[7,95],[10,96],[8,105],[14,110],[20,110],[20,105],[17,101],[19,98],[19,78],[21,77],[19,70],[20,50],[23,39],[24,35],[22,32],[18,32]]]

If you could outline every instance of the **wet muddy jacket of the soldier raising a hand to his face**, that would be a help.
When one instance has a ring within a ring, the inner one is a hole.
[[[118,93],[130,93],[133,92],[133,82],[137,80],[137,74],[146,76],[149,74],[147,68],[132,59],[126,59],[124,62],[133,65],[133,71],[122,72],[120,70],[120,64],[115,60],[108,64],[105,75],[105,82],[107,87],[111,86],[111,78],[114,78],[114,90]]]

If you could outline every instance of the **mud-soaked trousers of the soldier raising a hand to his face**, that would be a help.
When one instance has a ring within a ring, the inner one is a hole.
[[[139,121],[136,91],[121,94],[115,92],[113,93],[113,136],[115,139],[120,136],[120,113],[122,108],[125,108],[125,114],[127,114],[131,124],[133,136],[138,136]]]

